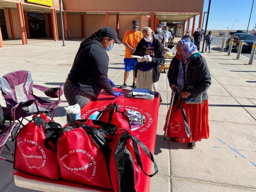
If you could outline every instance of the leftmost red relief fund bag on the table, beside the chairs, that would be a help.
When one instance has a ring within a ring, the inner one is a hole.
[[[56,147],[49,138],[62,130],[61,125],[51,126],[42,117],[20,130],[16,137],[14,169],[47,179],[59,180]]]

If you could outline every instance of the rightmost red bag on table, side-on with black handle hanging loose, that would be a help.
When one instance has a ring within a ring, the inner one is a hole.
[[[131,133],[131,132],[130,132]],[[147,176],[158,172],[153,155],[149,149],[126,129],[118,129],[109,144],[112,148],[110,155],[110,175],[115,192],[138,192],[141,171]],[[148,175],[142,166],[139,147],[154,163],[155,173]]]

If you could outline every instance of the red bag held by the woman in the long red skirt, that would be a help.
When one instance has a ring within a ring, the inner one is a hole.
[[[166,136],[187,139],[191,137],[191,131],[187,123],[187,115],[185,113],[185,109],[178,106],[179,105],[177,103],[173,104]],[[170,110],[168,110],[166,115],[164,131],[166,130],[169,112]]]

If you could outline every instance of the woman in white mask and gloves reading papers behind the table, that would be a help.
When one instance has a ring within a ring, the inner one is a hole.
[[[164,51],[150,27],[142,29],[143,38],[139,41],[133,55],[141,56],[137,59],[135,77],[137,88],[147,88],[156,91],[156,84],[160,77],[159,66],[164,61]]]

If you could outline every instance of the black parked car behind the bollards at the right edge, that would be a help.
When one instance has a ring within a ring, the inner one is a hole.
[[[235,48],[235,51],[238,52],[240,40],[243,40],[242,51],[250,51],[252,49],[252,44],[256,42],[256,36],[249,33],[235,33],[232,37],[229,37],[226,42],[226,49],[229,48],[229,41],[233,39],[232,48]]]

